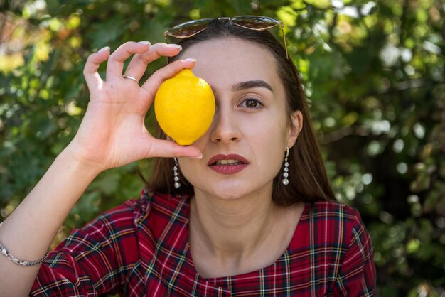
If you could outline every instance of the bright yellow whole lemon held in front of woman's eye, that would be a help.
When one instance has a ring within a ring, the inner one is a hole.
[[[161,84],[154,98],[154,114],[168,136],[188,146],[212,124],[215,95],[205,80],[184,69]]]

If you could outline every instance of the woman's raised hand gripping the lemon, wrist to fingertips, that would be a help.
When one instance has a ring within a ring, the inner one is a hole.
[[[182,69],[193,68],[195,60],[175,61],[154,72],[141,86],[122,77],[124,61],[131,55],[134,57],[125,75],[140,80],[153,60],[179,52],[178,45],[127,42],[111,55],[109,48],[90,55],[84,69],[90,102],[68,151],[82,164],[99,171],[143,158],[200,156],[195,146],[179,146],[174,141],[154,138],[144,125],[159,85]],[[108,60],[107,79],[102,80],[97,69],[105,60]]]

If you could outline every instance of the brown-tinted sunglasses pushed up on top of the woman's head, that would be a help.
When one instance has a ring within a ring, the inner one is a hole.
[[[284,36],[284,25],[282,21],[279,21],[275,18],[269,18],[267,16],[234,16],[232,18],[217,18],[218,20],[227,20],[235,24],[236,26],[240,26],[242,28],[247,28],[254,31],[264,31],[275,26],[280,26],[282,28],[282,35],[284,41],[284,49],[286,50],[286,58],[289,59],[287,54],[287,46],[286,46],[286,36]],[[204,31],[208,24],[211,21],[214,21],[215,18],[201,18],[195,21],[188,21],[186,23],[181,23],[178,26],[174,26],[173,28],[168,29],[163,34],[166,43],[167,36],[171,36],[173,38],[191,38],[196,34]]]

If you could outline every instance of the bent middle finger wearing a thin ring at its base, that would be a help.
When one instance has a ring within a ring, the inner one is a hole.
[[[130,75],[140,80],[142,75],[144,75],[146,67],[149,65],[149,63],[161,56],[173,57],[178,55],[181,50],[181,45],[173,43],[155,43],[154,45],[151,45],[149,50],[147,50],[145,53],[134,55],[127,67],[127,70],[125,70],[125,75]]]

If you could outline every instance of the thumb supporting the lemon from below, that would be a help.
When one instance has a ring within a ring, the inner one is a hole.
[[[149,157],[162,157],[162,158],[172,158],[172,157],[188,157],[188,158],[202,158],[203,155],[199,148],[196,146],[180,146],[174,141],[164,140],[164,139],[150,139],[151,149],[149,150]]]

